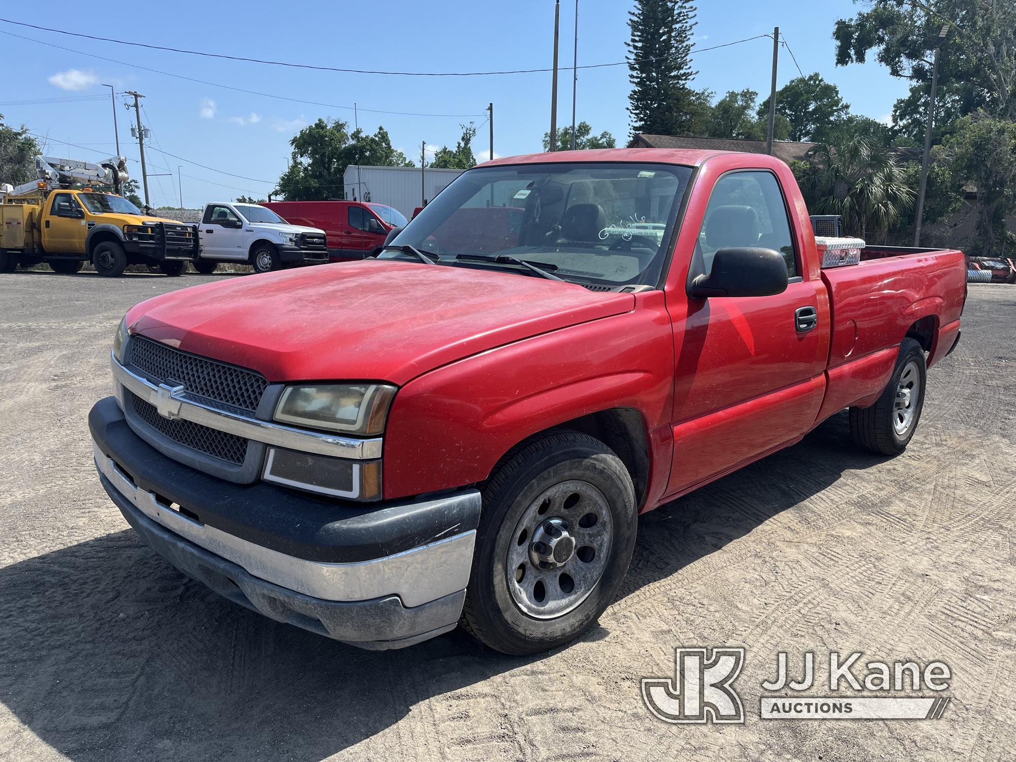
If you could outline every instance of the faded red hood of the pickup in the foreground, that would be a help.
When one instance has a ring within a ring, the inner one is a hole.
[[[269,381],[401,385],[469,355],[634,305],[630,294],[522,274],[365,260],[165,294],[128,312],[127,325]]]

